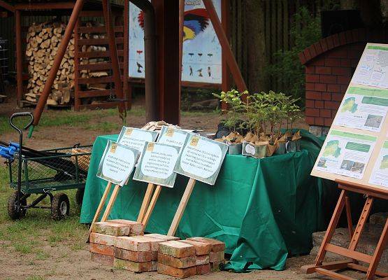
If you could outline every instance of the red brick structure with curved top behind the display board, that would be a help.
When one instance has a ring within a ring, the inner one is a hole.
[[[366,43],[387,43],[384,30],[353,29],[322,38],[299,53],[306,66],[306,123],[329,127]]]

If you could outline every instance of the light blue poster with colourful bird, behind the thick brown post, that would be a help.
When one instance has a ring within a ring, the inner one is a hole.
[[[213,0],[220,19],[221,1]],[[129,77],[145,77],[144,57],[143,11],[129,3]],[[185,1],[182,81],[222,83],[221,45],[201,0]]]

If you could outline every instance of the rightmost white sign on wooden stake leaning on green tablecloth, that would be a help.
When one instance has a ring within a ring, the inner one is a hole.
[[[189,202],[190,195],[194,190],[196,180],[209,185],[215,184],[227,151],[227,144],[196,134],[189,134],[175,165],[175,172],[188,176],[190,179],[167,235],[175,235],[187,202]]]

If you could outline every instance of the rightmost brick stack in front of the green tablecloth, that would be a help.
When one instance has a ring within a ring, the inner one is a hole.
[[[215,239],[192,237],[159,244],[157,271],[186,278],[220,270],[225,244]]]

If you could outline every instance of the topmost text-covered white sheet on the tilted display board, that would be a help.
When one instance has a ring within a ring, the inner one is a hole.
[[[352,83],[388,88],[388,46],[368,44]]]

